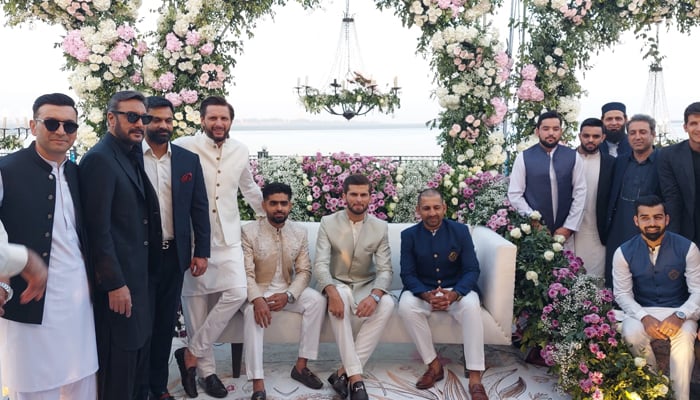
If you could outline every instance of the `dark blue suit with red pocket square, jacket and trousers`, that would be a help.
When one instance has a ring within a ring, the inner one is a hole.
[[[210,255],[209,201],[199,156],[171,144],[171,191],[174,247],[162,250],[158,265],[151,267],[150,293],[153,335],[150,346],[149,388],[156,395],[167,392],[168,359],[172,345],[184,273],[192,257]],[[160,193],[158,194],[160,195]],[[194,252],[192,249],[194,231]]]

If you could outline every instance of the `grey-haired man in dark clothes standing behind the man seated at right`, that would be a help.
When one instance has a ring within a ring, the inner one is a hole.
[[[657,151],[654,149],[656,121],[638,114],[627,122],[632,153],[615,160],[607,211],[605,246],[605,286],[612,288],[612,259],[615,250],[639,232],[634,225],[634,202],[650,194],[660,195]]]

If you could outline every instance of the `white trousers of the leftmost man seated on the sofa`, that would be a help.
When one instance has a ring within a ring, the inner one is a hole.
[[[266,292],[265,297],[272,293]],[[321,336],[321,325],[326,316],[326,298],[311,288],[304,289],[294,304],[287,303],[285,311],[302,314],[301,334],[299,337],[299,357],[315,360],[318,357],[318,342]],[[265,379],[263,370],[263,341],[265,328],[255,323],[255,308],[246,303],[243,310],[245,368],[248,379]],[[275,313],[272,313],[272,320]],[[284,329],[284,327],[278,326]]]

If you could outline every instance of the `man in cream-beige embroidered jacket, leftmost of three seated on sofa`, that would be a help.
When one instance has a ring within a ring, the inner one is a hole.
[[[311,261],[306,229],[287,221],[292,210],[292,189],[284,183],[270,183],[262,190],[266,218],[244,225],[241,232],[248,301],[245,319],[245,365],[253,381],[252,400],[264,400],[264,328],[273,312],[282,309],[302,314],[299,358],[292,368],[293,379],[312,389],[323,382],[306,367],[318,355],[326,299],[308,287]]]

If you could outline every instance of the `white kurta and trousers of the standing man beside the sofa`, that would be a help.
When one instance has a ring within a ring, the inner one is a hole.
[[[173,143],[199,155],[209,200],[207,272],[198,277],[185,274],[182,287],[188,348],[198,358],[197,375],[205,378],[216,372],[213,344],[246,299],[238,190],[259,215],[264,214],[262,193],[253,180],[243,143],[228,138],[218,146],[203,133]]]

